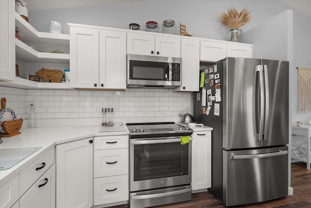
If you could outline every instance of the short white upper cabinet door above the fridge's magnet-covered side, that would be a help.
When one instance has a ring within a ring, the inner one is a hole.
[[[201,40],[200,60],[216,62],[226,57],[227,44],[224,42]]]

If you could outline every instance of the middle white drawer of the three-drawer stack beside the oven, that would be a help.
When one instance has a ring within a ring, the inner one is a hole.
[[[128,148],[94,151],[94,178],[128,174]]]

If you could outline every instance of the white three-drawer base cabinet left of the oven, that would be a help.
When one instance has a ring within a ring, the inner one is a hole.
[[[128,141],[128,135],[94,137],[94,206],[127,203]]]

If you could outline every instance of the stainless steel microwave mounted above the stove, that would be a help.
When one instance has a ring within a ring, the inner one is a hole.
[[[130,88],[181,86],[181,58],[128,54],[126,84]]]

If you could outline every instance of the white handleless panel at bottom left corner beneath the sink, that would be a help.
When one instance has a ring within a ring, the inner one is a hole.
[[[18,200],[18,173],[0,187],[0,208],[10,208]]]

